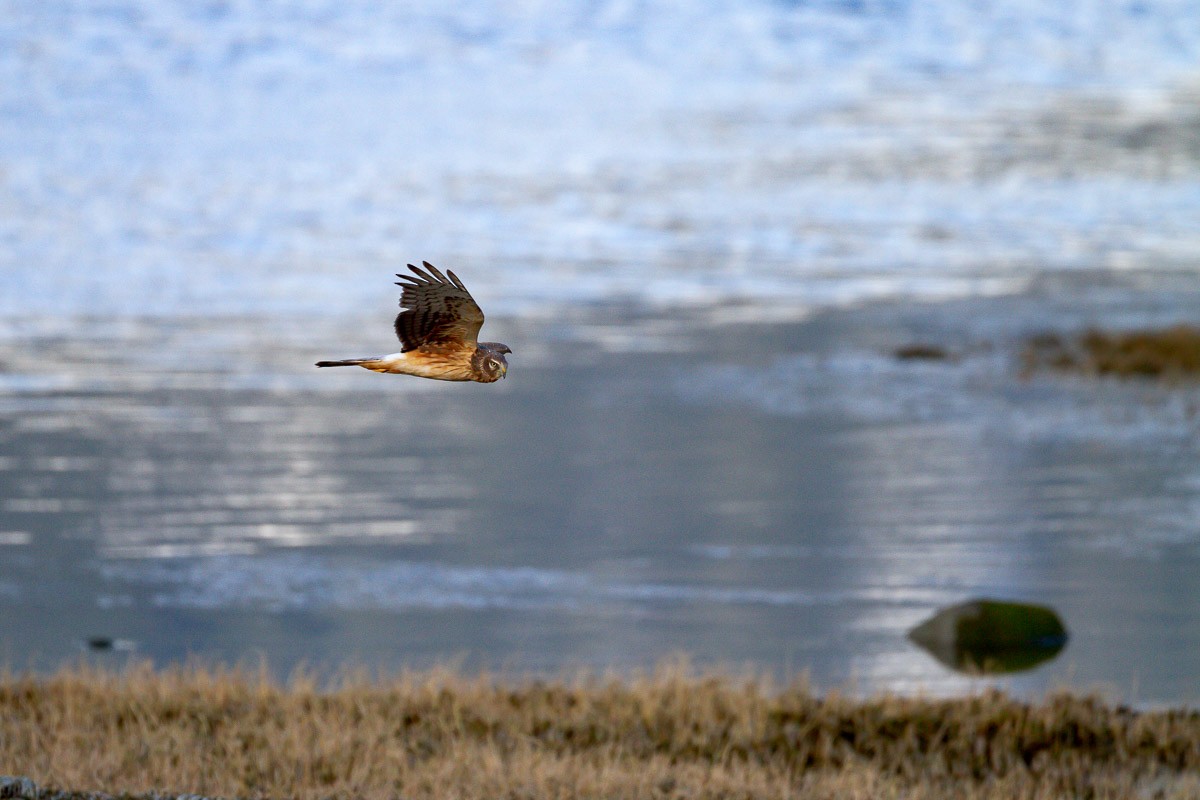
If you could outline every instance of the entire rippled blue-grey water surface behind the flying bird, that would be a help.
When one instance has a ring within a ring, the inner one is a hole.
[[[0,660],[1195,704],[1195,386],[1020,351],[1198,258],[1190,0],[0,1]],[[313,368],[420,260],[509,380]]]

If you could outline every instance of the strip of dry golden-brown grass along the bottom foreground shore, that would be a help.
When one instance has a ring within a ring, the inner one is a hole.
[[[668,663],[623,678],[452,669],[329,686],[265,669],[0,676],[0,796],[1200,796],[1200,711],[817,693]],[[24,787],[24,788],[22,788]]]

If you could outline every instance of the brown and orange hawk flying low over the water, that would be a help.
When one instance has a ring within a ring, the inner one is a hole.
[[[396,315],[400,353],[370,359],[318,361],[318,367],[364,367],[434,380],[475,380],[493,384],[509,372],[508,344],[479,342],[484,326],[480,311],[458,276],[422,261],[425,269],[408,265],[413,275],[400,275],[403,291]]]

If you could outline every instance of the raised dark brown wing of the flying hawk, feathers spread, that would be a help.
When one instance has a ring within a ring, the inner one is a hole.
[[[401,351],[408,353],[425,345],[470,345],[475,347],[479,329],[484,326],[484,312],[480,311],[467,287],[458,276],[446,270],[442,275],[438,267],[428,261],[419,266],[408,265],[413,275],[396,275],[404,281],[396,282],[402,287],[400,305],[404,309],[396,315],[396,336],[400,337]]]

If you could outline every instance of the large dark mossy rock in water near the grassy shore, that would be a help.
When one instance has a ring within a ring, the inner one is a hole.
[[[947,667],[994,674],[1050,661],[1067,644],[1067,628],[1052,608],[980,599],[943,608],[908,638]]]

